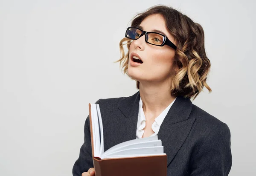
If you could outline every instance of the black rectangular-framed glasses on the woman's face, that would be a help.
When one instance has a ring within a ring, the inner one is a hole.
[[[157,32],[146,32],[137,27],[128,27],[125,32],[125,37],[130,38],[132,40],[137,40],[144,34],[145,34],[145,42],[151,45],[156,45],[156,46],[168,45],[175,50],[177,49],[177,46],[174,43],[172,43],[165,35]]]

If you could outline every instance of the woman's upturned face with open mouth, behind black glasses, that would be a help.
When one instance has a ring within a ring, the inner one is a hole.
[[[147,32],[161,31],[174,43],[174,38],[166,29],[165,20],[160,14],[152,14],[146,17],[140,23],[140,26]],[[168,45],[155,46],[146,43],[145,35],[143,35],[131,42],[129,50],[128,75],[131,78],[140,82],[163,82],[171,78],[173,74],[172,58],[175,55],[175,49]],[[143,63],[134,62],[133,54],[138,55]]]

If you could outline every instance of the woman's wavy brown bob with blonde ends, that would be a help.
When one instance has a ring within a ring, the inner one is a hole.
[[[204,87],[211,92],[212,89],[206,83],[211,64],[204,48],[202,26],[176,9],[164,5],[152,6],[145,12],[138,13],[133,18],[131,26],[140,26],[140,23],[151,14],[161,14],[164,17],[166,27],[177,46],[173,58],[175,74],[170,87],[172,95],[195,99]],[[126,54],[124,45],[128,48]],[[125,74],[128,69],[130,45],[131,39],[128,38],[123,38],[119,43],[121,58],[116,62],[120,62]],[[137,89],[140,89],[139,81],[137,81]]]

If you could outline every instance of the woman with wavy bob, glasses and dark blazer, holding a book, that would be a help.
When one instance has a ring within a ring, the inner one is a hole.
[[[105,150],[158,135],[168,158],[168,176],[227,176],[232,164],[230,130],[190,101],[203,87],[211,92],[201,25],[171,7],[153,6],[134,18],[120,51],[120,64],[140,91],[96,102],[105,127]],[[73,175],[94,174],[87,118]]]

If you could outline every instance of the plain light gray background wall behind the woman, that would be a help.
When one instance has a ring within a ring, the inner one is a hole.
[[[71,175],[88,103],[137,92],[113,61],[134,14],[156,4],[203,26],[213,91],[193,103],[230,127],[230,176],[256,174],[255,1],[0,0],[1,176]]]

